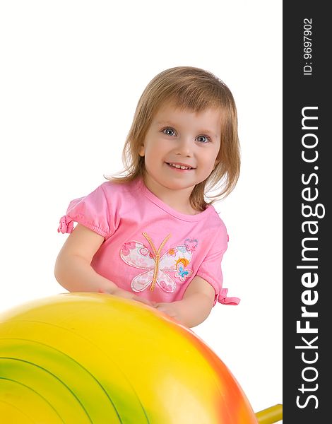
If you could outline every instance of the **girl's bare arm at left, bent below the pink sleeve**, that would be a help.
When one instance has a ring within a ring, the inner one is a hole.
[[[101,235],[84,225],[76,225],[57,257],[54,268],[57,281],[70,292],[109,293],[151,305],[148,300],[122,290],[113,281],[95,272],[90,264],[102,242],[104,237]]]

